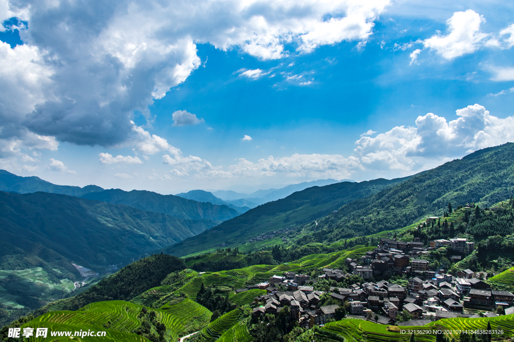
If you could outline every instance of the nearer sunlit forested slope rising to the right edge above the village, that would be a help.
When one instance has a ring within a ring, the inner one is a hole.
[[[408,181],[342,206],[298,243],[330,243],[408,226],[448,203],[490,206],[514,192],[514,143],[487,148],[417,174]],[[476,228],[480,229],[480,228]]]

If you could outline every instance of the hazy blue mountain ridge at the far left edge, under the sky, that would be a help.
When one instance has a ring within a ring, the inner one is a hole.
[[[61,193],[70,196],[82,196],[90,192],[103,191],[96,185],[88,185],[83,188],[67,185],[55,185],[39,177],[22,177],[5,170],[0,170],[0,191],[17,193],[33,193],[38,191]]]

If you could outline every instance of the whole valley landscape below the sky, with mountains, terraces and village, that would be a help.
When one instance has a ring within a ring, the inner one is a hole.
[[[113,341],[469,342],[487,336],[463,331],[492,329],[510,340],[513,158],[508,143],[410,177],[310,187],[232,218],[226,205],[185,211],[200,202],[147,192],[0,192],[0,337],[48,328]],[[105,278],[74,293],[89,271],[72,263]]]

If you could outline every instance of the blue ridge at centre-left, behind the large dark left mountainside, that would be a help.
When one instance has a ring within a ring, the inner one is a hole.
[[[241,213],[226,205],[197,202],[175,195],[161,195],[152,191],[109,189],[81,196],[88,200],[124,204],[133,208],[161,212],[179,219],[212,220],[218,223],[230,220]]]

